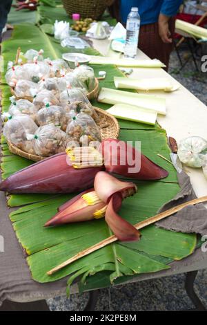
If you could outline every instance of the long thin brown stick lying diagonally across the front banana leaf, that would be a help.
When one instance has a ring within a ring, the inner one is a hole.
[[[188,207],[189,205],[195,205],[197,203],[202,203],[202,202],[206,202],[206,201],[207,201],[207,196],[202,196],[201,198],[195,198],[192,201],[182,203],[180,205],[177,205],[177,207],[172,207],[169,210],[166,210],[164,212],[156,214],[155,216],[152,216],[151,218],[148,218],[148,219],[146,219],[144,221],[141,221],[141,222],[137,223],[136,225],[134,225],[134,227],[137,230],[140,230],[141,228],[144,228],[147,225],[151,225],[152,223],[155,223],[155,222],[157,222],[159,220],[162,220],[162,219],[166,218],[167,216],[171,216],[172,214],[175,214],[176,212],[179,212],[184,207]],[[53,275],[55,272],[61,270],[62,268],[65,268],[66,266],[68,266],[72,262],[77,261],[77,259],[81,259],[81,257],[84,257],[84,256],[86,256],[86,255],[88,255],[88,254],[90,254],[92,252],[95,252],[96,250],[99,250],[100,248],[103,248],[106,245],[109,245],[110,243],[114,243],[117,240],[118,240],[117,236],[115,236],[115,235],[110,236],[110,237],[104,239],[103,241],[100,241],[99,243],[91,246],[90,248],[86,248],[86,250],[83,250],[83,251],[79,252],[78,254],[71,257],[67,261],[64,261],[63,263],[61,263],[59,266],[56,266],[55,268],[52,268],[52,270],[47,272],[47,275]]]

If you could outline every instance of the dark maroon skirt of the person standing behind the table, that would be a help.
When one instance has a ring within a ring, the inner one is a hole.
[[[170,20],[169,27],[170,32],[173,35],[175,32],[174,19]],[[168,71],[170,53],[172,52],[173,44],[165,44],[161,40],[157,23],[141,26],[139,48],[146,53],[150,59],[159,59],[163,62],[166,65],[166,71]]]

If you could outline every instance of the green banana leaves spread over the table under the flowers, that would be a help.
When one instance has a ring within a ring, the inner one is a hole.
[[[15,26],[12,38],[3,43],[2,55],[5,59],[5,67],[8,60],[14,59],[19,45],[23,51],[31,47],[43,48],[46,57],[49,56],[52,59],[61,57],[65,51],[41,28],[32,24],[21,24]],[[92,54],[97,53],[93,49],[89,51]],[[104,86],[107,84],[108,88],[115,89],[113,77],[122,76],[121,72],[112,65],[101,66],[101,70],[103,68],[106,71]],[[96,66],[95,73],[98,71],[99,66]],[[4,82],[3,76],[2,81]],[[10,89],[2,83],[1,90],[3,111],[6,111],[9,105]],[[103,109],[108,108],[107,104],[97,102],[95,104]],[[130,223],[137,223],[154,215],[161,205],[174,197],[179,191],[179,185],[172,165],[157,156],[161,154],[169,158],[170,150],[166,131],[158,124],[153,127],[123,121],[120,125],[121,140],[141,140],[142,152],[169,171],[169,176],[164,181],[135,182],[138,192],[124,201],[120,214]],[[4,178],[32,163],[9,154],[6,140],[3,137],[1,137],[1,146],[3,154],[1,169]],[[112,283],[120,284],[141,273],[170,268],[168,265],[170,261],[183,259],[195,250],[197,239],[194,234],[170,232],[151,225],[141,231],[142,238],[138,243],[113,243],[49,277],[46,275],[48,270],[111,234],[104,219],[59,228],[43,228],[43,224],[57,212],[57,207],[72,197],[72,194],[59,196],[19,194],[9,198],[10,206],[21,206],[10,214],[10,220],[19,242],[28,254],[28,266],[35,281],[46,283],[70,276],[68,279],[68,286],[70,286],[73,281],[77,281],[78,277],[81,291],[86,288],[97,288],[97,286],[109,286]],[[94,282],[90,280],[91,276],[91,279],[95,277]]]

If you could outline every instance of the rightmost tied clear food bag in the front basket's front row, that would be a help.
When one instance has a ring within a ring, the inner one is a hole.
[[[89,115],[79,113],[72,117],[66,129],[69,141],[79,142],[80,146],[88,147],[91,141],[101,141],[101,133]]]

